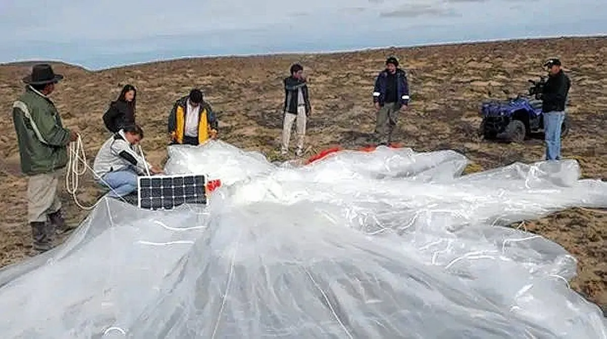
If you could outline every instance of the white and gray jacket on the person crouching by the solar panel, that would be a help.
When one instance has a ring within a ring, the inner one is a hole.
[[[147,174],[152,166],[135,150],[134,145],[126,140],[124,130],[120,130],[106,140],[95,157],[93,171],[97,178],[109,172],[132,170],[137,174]]]

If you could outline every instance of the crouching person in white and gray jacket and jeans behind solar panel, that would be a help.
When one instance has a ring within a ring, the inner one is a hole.
[[[121,128],[101,146],[95,157],[93,170],[98,183],[109,186],[109,197],[124,197],[137,192],[137,177],[148,173],[161,174],[162,170],[150,165],[135,150],[143,130],[138,125]]]

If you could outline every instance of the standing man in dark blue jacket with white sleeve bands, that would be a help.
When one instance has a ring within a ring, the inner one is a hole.
[[[385,70],[375,80],[373,102],[377,110],[375,133],[380,145],[392,142],[392,131],[398,122],[402,107],[409,105],[407,74],[398,68],[398,60],[390,57],[385,61]]]

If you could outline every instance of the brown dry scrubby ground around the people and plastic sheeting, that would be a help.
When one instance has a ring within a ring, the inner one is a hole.
[[[220,137],[226,142],[263,151],[277,159],[282,123],[282,78],[293,62],[308,76],[313,115],[308,123],[307,154],[333,145],[362,146],[374,130],[371,104],[373,81],[385,58],[395,55],[407,71],[412,92],[401,115],[398,141],[416,151],[453,149],[479,171],[515,161],[543,157],[541,137],[524,144],[482,140],[476,134],[481,100],[506,99],[526,93],[527,79],[545,75],[545,59],[558,56],[572,80],[571,133],[563,140],[563,155],[575,158],[582,176],[607,177],[607,38],[561,38],[482,44],[393,48],[355,53],[183,59],[103,71],[53,64],[66,79],[52,99],[67,127],[78,127],[89,162],[107,134],[101,116],[124,84],[138,89],[137,119],[145,131],[142,146],[152,163],[166,156],[166,122],[172,103],[200,87],[220,113]],[[30,254],[30,229],[25,224],[26,180],[19,174],[18,146],[10,117],[13,100],[24,85],[30,64],[0,65],[0,266]],[[78,223],[78,209],[63,190],[69,221]],[[81,182],[79,199],[92,204],[100,196],[92,176]],[[578,263],[572,288],[605,309],[607,306],[607,215],[605,211],[568,209],[527,221],[529,231],[565,247]]]

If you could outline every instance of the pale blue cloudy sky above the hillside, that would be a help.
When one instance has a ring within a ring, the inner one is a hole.
[[[0,0],[0,62],[91,69],[183,56],[607,33],[605,0]]]

